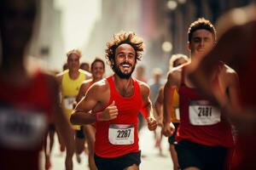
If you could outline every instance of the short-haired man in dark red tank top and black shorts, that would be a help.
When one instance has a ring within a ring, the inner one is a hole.
[[[188,36],[191,63],[195,59],[202,59],[216,41],[215,28],[209,20],[205,19],[193,22],[189,26]],[[168,89],[177,87],[180,96],[180,125],[177,129],[175,148],[179,166],[182,169],[224,169],[227,151],[233,145],[230,124],[221,115],[219,109],[194,88],[194,84],[188,78],[190,72],[188,65],[177,67],[168,74],[164,88],[164,111],[167,119],[163,133],[169,136],[173,132],[170,111],[168,111],[172,94],[169,94]],[[217,75],[218,72],[212,80],[222,86]]]

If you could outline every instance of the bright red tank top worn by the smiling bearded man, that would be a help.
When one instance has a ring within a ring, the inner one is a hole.
[[[137,115],[143,106],[143,99],[138,82],[132,79],[134,94],[122,97],[116,90],[113,77],[107,78],[110,88],[110,99],[118,108],[119,115],[111,121],[96,122],[95,153],[102,157],[123,156],[139,151],[137,134]]]

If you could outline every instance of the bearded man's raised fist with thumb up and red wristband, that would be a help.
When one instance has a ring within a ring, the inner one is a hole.
[[[118,109],[113,101],[111,105],[108,105],[108,107],[100,113],[99,121],[113,120],[118,116],[118,114]]]

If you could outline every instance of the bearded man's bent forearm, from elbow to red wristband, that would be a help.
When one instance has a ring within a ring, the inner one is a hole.
[[[75,111],[70,117],[70,122],[73,125],[84,125],[96,122],[96,113]]]

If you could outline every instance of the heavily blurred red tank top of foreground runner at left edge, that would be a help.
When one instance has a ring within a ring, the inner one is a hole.
[[[17,88],[0,78],[0,169],[39,169],[51,98],[42,73],[26,88]]]

